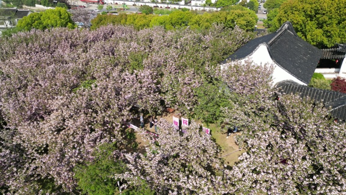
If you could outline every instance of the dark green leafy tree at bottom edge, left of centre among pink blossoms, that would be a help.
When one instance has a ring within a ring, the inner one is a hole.
[[[116,143],[100,145],[93,154],[95,157],[93,162],[73,169],[82,194],[114,194],[118,191],[117,180],[113,176],[123,173],[126,165],[114,158],[113,151],[117,149]]]

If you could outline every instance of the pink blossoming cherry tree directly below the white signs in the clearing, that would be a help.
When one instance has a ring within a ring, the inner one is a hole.
[[[123,187],[142,185],[144,180],[157,194],[224,193],[220,193],[223,166],[219,149],[210,135],[201,132],[194,122],[186,127],[186,133],[177,132],[165,120],[160,120],[158,127],[159,136],[143,132],[150,140],[145,155],[123,155],[129,171],[115,175],[127,182]]]

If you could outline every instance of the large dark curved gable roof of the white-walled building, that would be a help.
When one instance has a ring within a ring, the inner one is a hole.
[[[298,37],[290,22],[285,22],[275,33],[249,41],[222,63],[243,59],[260,44],[267,46],[272,60],[278,66],[305,84],[310,82],[322,55],[320,49]]]

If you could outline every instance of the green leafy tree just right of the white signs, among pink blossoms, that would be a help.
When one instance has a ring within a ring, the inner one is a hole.
[[[195,89],[198,96],[198,103],[194,108],[196,116],[203,120],[203,123],[217,124],[222,118],[221,107],[229,107],[228,88],[221,82],[204,83]]]

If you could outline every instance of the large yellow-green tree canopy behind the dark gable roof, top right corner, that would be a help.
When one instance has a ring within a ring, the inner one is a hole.
[[[271,31],[290,21],[310,44],[326,48],[346,42],[346,0],[289,0],[279,8]]]

